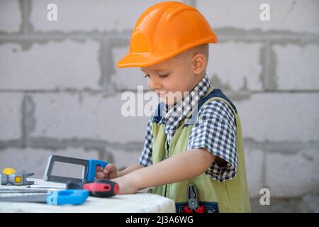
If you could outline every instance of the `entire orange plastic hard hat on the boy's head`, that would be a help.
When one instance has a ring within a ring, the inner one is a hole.
[[[179,1],[165,1],[147,9],[130,36],[130,51],[118,67],[147,67],[217,37],[201,13]]]

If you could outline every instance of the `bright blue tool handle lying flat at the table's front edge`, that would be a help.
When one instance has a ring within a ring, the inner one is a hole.
[[[83,204],[86,198],[89,196],[89,192],[86,190],[63,190],[50,192],[47,195],[47,204],[50,205],[62,205],[62,204]]]

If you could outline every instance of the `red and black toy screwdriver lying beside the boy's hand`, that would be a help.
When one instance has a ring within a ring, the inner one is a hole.
[[[67,182],[67,189],[86,189],[90,196],[110,197],[118,194],[118,183],[109,180],[96,180],[95,182]]]

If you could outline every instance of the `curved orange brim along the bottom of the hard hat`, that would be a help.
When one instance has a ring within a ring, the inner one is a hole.
[[[213,35],[210,38],[206,38],[205,40],[199,40],[198,42],[193,43],[192,45],[186,46],[184,48],[180,48],[177,51],[169,53],[169,55],[155,55],[154,53],[150,52],[128,53],[121,60],[118,61],[117,66],[119,68],[148,67],[160,62],[164,62],[164,60],[168,60],[170,57],[179,55],[181,52],[184,52],[185,50],[189,50],[190,48],[194,48],[197,45],[205,43],[217,43],[216,35]]]

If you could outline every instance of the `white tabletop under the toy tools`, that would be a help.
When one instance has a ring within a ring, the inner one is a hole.
[[[35,185],[61,186],[65,184],[44,182],[42,179],[34,180]],[[0,188],[21,188],[25,186],[0,185]],[[0,196],[3,196],[0,194]],[[89,196],[82,205],[58,205],[29,203],[29,202],[3,202],[0,201],[0,212],[112,212],[112,213],[150,213],[150,212],[175,212],[172,199],[167,199],[156,194],[138,192],[137,194],[116,195],[108,198]]]

